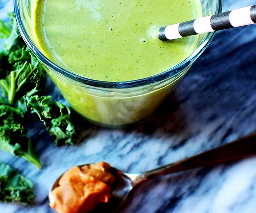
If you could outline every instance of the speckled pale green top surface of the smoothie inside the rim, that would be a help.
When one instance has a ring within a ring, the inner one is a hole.
[[[151,37],[159,27],[202,17],[199,0],[37,0],[35,35],[60,67],[102,81],[129,81],[185,60],[198,36]]]

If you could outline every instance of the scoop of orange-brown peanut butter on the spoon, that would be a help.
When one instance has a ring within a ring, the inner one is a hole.
[[[108,202],[115,176],[104,162],[73,167],[50,194],[50,206],[58,213],[87,213],[101,202]]]

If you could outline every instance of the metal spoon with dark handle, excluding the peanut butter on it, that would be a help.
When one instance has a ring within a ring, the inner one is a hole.
[[[112,167],[111,172],[116,176],[116,181],[112,186],[112,196],[107,203],[98,204],[92,212],[115,212],[124,203],[135,186],[138,186],[141,182],[147,181],[148,179],[178,171],[235,160],[253,154],[256,154],[256,133],[176,163],[138,174],[123,173]],[[61,177],[62,175],[60,178]],[[59,186],[60,178],[55,181],[51,191]]]

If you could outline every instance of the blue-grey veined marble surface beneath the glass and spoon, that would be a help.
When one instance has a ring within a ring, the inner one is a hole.
[[[256,4],[224,0],[223,11]],[[0,0],[0,18],[12,1]],[[48,190],[73,165],[107,161],[128,172],[169,164],[256,132],[256,26],[218,32],[180,85],[147,122],[110,130],[86,121],[86,139],[55,147],[44,126],[29,129],[43,168],[0,151],[35,185],[32,206],[0,203],[1,213],[53,213]],[[54,98],[62,100],[48,80]],[[33,117],[31,118],[34,119]],[[256,156],[167,175],[148,181],[132,194],[122,213],[255,213]]]

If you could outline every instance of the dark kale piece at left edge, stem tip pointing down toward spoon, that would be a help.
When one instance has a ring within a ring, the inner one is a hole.
[[[0,149],[18,157],[24,157],[41,168],[39,158],[27,137],[27,131],[21,124],[23,118],[22,109],[9,106],[0,97]]]

